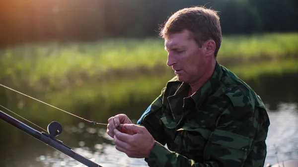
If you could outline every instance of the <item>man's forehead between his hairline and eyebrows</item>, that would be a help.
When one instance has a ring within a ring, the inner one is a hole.
[[[173,47],[184,47],[187,46],[190,42],[194,42],[188,30],[183,30],[179,33],[170,34],[164,40],[165,48],[173,48]]]

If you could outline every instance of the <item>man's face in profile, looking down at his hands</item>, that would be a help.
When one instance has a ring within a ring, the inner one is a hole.
[[[188,30],[170,34],[165,39],[168,52],[167,65],[172,66],[180,82],[195,83],[204,75],[208,66],[206,48],[200,48]]]

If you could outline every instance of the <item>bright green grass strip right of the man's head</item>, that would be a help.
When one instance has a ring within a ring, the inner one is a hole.
[[[298,55],[298,33],[224,37],[219,58]]]

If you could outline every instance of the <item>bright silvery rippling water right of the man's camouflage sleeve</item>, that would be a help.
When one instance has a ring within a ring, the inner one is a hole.
[[[298,159],[298,105],[279,104],[277,110],[269,110],[268,115],[270,126],[266,140],[266,163]]]

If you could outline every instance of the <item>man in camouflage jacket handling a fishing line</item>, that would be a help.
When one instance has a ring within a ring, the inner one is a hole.
[[[160,36],[177,76],[138,125],[125,114],[108,119],[116,149],[150,167],[263,167],[269,118],[255,92],[216,60],[222,41],[216,11],[179,10]]]

